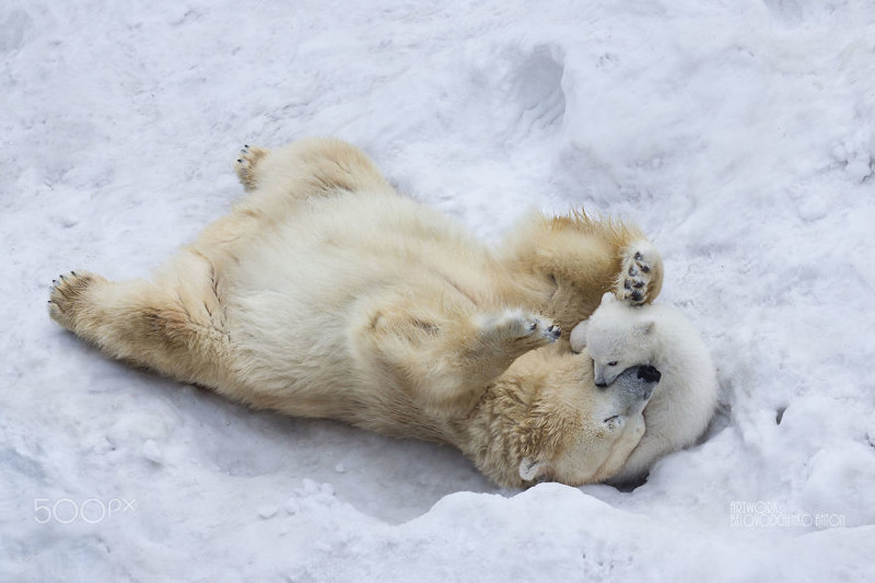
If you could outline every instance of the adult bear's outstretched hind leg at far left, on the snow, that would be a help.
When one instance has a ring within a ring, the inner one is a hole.
[[[222,310],[217,296],[195,289],[197,275],[190,276],[174,288],[70,272],[54,282],[49,315],[114,358],[214,386],[228,343]]]

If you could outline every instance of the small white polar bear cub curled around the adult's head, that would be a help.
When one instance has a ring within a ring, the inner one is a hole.
[[[662,373],[644,408],[644,436],[611,482],[642,478],[654,462],[691,445],[713,416],[718,380],[711,357],[687,318],[669,305],[631,306],[606,293],[571,333],[571,348],[590,352],[597,386],[610,385],[637,364]]]

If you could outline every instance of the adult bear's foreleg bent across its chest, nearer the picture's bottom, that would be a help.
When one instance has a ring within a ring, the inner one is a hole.
[[[467,411],[514,360],[561,335],[558,326],[524,310],[442,324],[405,312],[374,319],[368,336],[376,361],[442,417]]]

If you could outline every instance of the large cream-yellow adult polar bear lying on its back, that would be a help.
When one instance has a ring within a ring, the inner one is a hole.
[[[51,317],[253,407],[453,444],[501,485],[621,468],[658,373],[597,388],[560,327],[611,289],[656,296],[662,261],[638,230],[537,214],[491,253],[330,139],[247,148],[237,173],[249,195],[152,281],[71,272]]]

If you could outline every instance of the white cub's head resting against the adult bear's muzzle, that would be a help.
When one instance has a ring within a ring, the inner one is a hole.
[[[633,307],[606,293],[590,319],[572,333],[572,348],[580,351],[586,347],[593,358],[595,384],[605,387],[631,366],[652,364],[653,326],[649,306]]]

